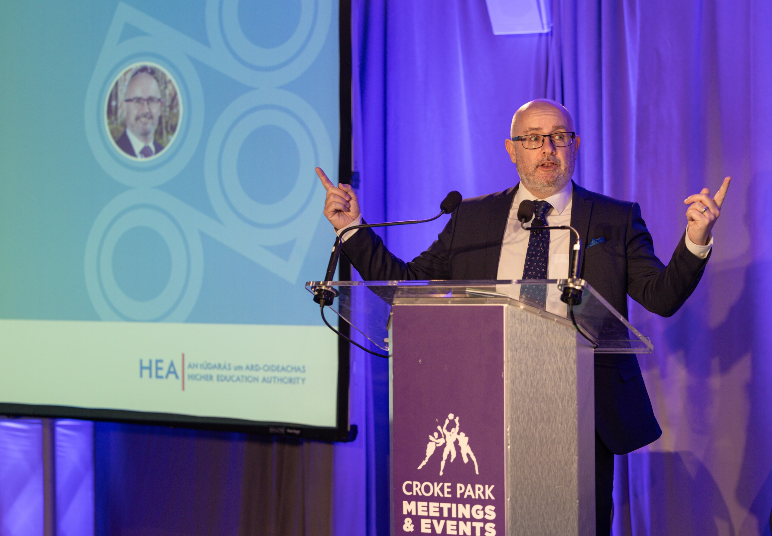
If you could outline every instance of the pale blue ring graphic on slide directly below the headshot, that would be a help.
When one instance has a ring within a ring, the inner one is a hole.
[[[201,290],[204,252],[198,230],[185,222],[180,205],[163,192],[135,189],[97,215],[86,240],[85,275],[102,320],[182,322],[188,317]],[[146,244],[151,249],[132,243],[137,232],[153,236],[154,244]],[[134,249],[126,251],[126,246]],[[157,273],[150,273],[154,269]],[[135,273],[127,277],[130,270]],[[137,281],[139,276],[151,281]]]

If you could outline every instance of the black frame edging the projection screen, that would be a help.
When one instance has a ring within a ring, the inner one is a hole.
[[[350,184],[352,174],[352,120],[351,120],[351,4],[350,0],[338,2],[338,53],[339,53],[339,113],[340,144],[338,181]],[[323,266],[320,266],[320,270]],[[349,280],[350,263],[341,258],[338,267],[340,280]],[[309,295],[309,307],[316,307]],[[346,336],[350,328],[339,321],[338,329]],[[255,435],[287,436],[319,441],[349,442],[356,439],[357,426],[349,423],[349,375],[350,346],[338,338],[338,373],[336,426],[301,426],[289,422],[259,422],[245,419],[191,416],[178,413],[139,412],[122,409],[93,409],[66,405],[32,405],[0,402],[0,416],[40,417],[55,419],[84,419],[93,421],[124,422],[152,426],[171,426],[190,429],[206,429]]]

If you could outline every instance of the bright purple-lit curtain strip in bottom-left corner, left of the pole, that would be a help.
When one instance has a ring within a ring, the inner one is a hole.
[[[43,534],[43,429],[39,420],[0,419],[0,535]]]

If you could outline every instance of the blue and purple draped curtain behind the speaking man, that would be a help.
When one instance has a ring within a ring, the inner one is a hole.
[[[682,199],[733,176],[689,302],[671,318],[631,307],[655,344],[639,359],[664,433],[618,456],[614,531],[769,534],[772,3],[555,0],[553,31],[533,36],[493,36],[482,0],[353,3],[355,168],[370,221],[515,184],[504,139],[536,97],[574,114],[577,182],[641,203],[665,262],[686,227]],[[442,225],[382,236],[411,258]],[[336,511],[351,508],[336,534],[387,534],[388,458],[374,456],[388,445],[385,378],[375,358],[354,362],[361,436],[337,447]]]

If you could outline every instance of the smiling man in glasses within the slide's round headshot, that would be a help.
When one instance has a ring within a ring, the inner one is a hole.
[[[134,70],[126,84],[124,99],[120,101],[120,115],[126,120],[126,130],[116,140],[121,151],[143,159],[164,150],[164,146],[154,139],[163,104],[155,70],[150,66]]]

